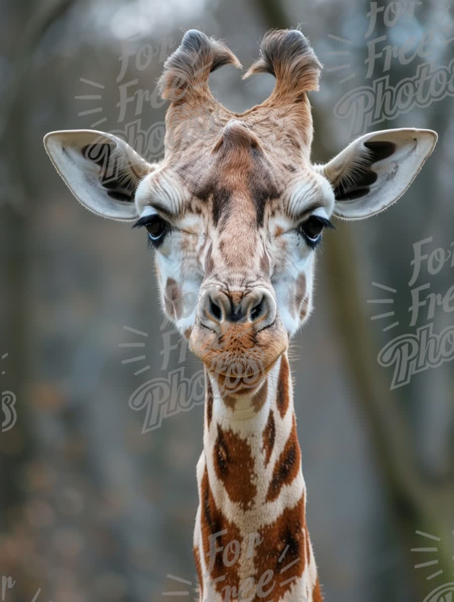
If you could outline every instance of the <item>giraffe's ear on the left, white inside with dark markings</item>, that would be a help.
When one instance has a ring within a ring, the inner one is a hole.
[[[153,171],[125,141],[92,129],[50,132],[45,149],[55,169],[82,205],[98,216],[137,219],[134,196]]]

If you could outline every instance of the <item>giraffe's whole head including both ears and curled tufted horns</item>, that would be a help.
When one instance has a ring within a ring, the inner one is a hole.
[[[210,72],[225,64],[240,66],[195,30],[168,58],[158,164],[96,131],[51,132],[45,146],[83,205],[146,229],[164,311],[209,371],[253,390],[311,312],[317,247],[332,216],[363,219],[395,202],[437,134],[374,132],[313,164],[307,93],[318,89],[321,64],[303,34],[265,36],[245,77],[269,72],[276,87],[245,113],[210,93]]]

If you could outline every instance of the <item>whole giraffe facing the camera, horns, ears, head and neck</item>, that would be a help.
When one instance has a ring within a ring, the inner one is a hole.
[[[45,147],[86,208],[146,229],[163,311],[203,362],[199,600],[320,602],[289,340],[311,314],[317,248],[332,217],[364,219],[396,202],[437,134],[373,132],[314,164],[308,93],[322,66],[301,31],[263,37],[245,77],[268,72],[276,85],[242,114],[209,90],[210,72],[226,64],[241,67],[194,29],[166,60],[160,162],[91,130],[50,132]]]

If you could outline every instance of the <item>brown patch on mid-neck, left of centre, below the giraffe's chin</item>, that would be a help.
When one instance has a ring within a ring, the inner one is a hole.
[[[251,447],[232,430],[222,430],[218,424],[218,436],[213,448],[215,471],[224,484],[230,500],[238,503],[242,510],[253,506],[257,488],[253,485],[254,459]]]

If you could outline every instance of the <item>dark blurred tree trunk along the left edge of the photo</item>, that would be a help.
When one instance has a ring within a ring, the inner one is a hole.
[[[17,421],[7,432],[0,435],[0,530],[5,537],[22,529],[22,509],[28,501],[27,468],[33,459],[34,425],[31,419],[28,385],[33,348],[32,313],[34,306],[31,289],[30,259],[33,231],[34,184],[30,181],[27,163],[27,110],[30,107],[27,75],[33,64],[33,56],[42,39],[55,19],[62,16],[74,0],[63,0],[52,4],[46,10],[42,6],[30,17],[27,3],[17,3],[11,20],[23,27],[22,35],[14,37],[14,26],[10,27],[11,39],[4,40],[14,48],[13,81],[2,98],[0,112],[0,132],[2,134],[1,163],[4,167],[2,203],[1,251],[4,268],[5,312],[1,336],[0,355],[8,353],[2,362],[2,391],[10,390],[16,396],[14,406]],[[25,26],[23,24],[25,23]],[[16,28],[17,31],[17,28]],[[8,54],[5,46],[5,55]],[[2,417],[3,419],[3,417]],[[14,563],[13,556],[2,556],[6,566],[2,575],[17,578],[14,599],[30,588],[24,566]],[[24,594],[24,599],[27,596]]]

